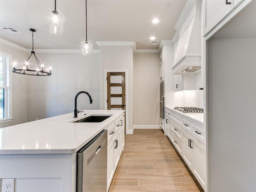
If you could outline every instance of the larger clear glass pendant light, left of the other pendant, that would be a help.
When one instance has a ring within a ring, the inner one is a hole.
[[[56,0],[54,10],[48,9],[44,12],[48,32],[54,35],[62,35],[64,30],[65,17],[56,10]]]

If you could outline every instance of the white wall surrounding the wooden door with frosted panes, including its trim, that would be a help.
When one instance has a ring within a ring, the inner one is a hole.
[[[133,131],[133,50],[132,46],[100,46],[100,109],[104,109],[104,70],[128,71],[128,96],[126,95],[126,133]],[[127,76],[127,74],[126,74]],[[127,100],[128,97],[128,100]],[[127,119],[128,115],[128,119]]]

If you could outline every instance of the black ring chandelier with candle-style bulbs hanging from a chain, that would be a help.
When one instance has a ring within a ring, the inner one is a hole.
[[[17,73],[17,74],[23,74],[23,75],[50,76],[50,75],[52,75],[52,68],[49,67],[46,69],[46,71],[44,71],[44,65],[40,63],[40,61],[38,60],[38,58],[36,57],[35,52],[34,52],[34,32],[36,32],[36,30],[30,29],[30,31],[32,31],[32,51],[31,51],[31,55],[29,56],[28,60],[30,59],[30,57],[32,55],[34,55],[34,57],[36,59],[36,63],[38,65],[38,68],[30,69],[30,64],[27,60],[25,62],[25,64],[23,65],[23,67],[20,69],[17,69],[16,63],[14,63],[12,72]]]

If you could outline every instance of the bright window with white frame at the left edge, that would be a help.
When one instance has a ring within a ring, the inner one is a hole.
[[[0,54],[0,121],[11,120],[9,57]]]

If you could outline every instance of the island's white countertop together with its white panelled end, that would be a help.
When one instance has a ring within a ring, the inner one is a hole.
[[[15,192],[75,192],[76,152],[124,114],[83,110],[0,129],[0,178],[15,178]],[[86,114],[86,115],[85,115]],[[111,114],[98,123],[72,123]]]

